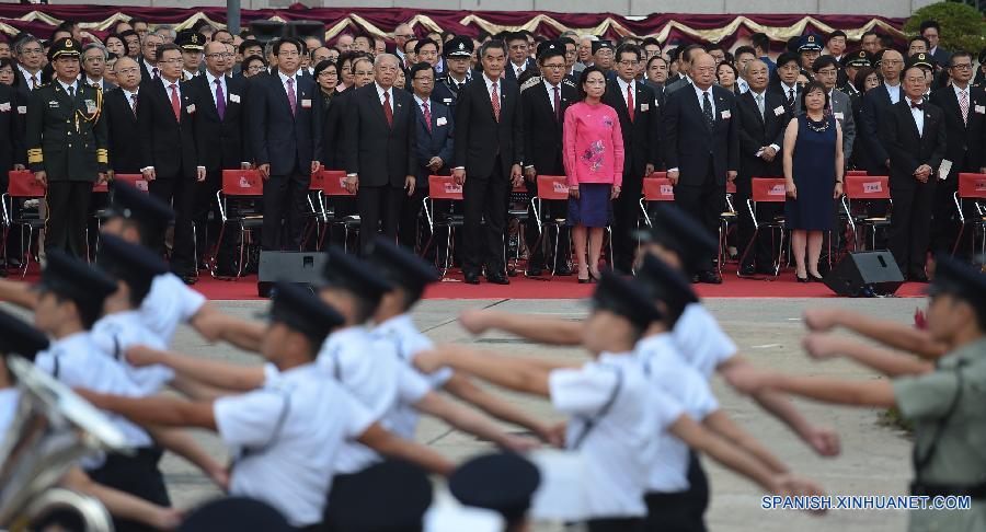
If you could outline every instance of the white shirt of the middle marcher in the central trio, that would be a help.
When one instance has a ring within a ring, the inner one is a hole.
[[[401,363],[391,340],[375,337],[362,326],[330,334],[317,363],[387,429],[400,405],[414,404],[431,391],[424,378]],[[336,460],[336,472],[356,473],[379,460],[368,447],[351,442]]]

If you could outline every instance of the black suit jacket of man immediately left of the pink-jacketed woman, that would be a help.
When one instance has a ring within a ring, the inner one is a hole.
[[[543,82],[538,82],[520,92],[524,109],[524,163],[534,166],[539,174],[564,175],[562,162],[562,125],[565,109],[578,101],[578,92],[564,81],[559,83],[560,112],[552,107],[554,93],[549,92]]]

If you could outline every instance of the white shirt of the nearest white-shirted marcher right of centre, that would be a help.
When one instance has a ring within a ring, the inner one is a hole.
[[[656,451],[654,435],[681,416],[681,406],[647,382],[632,354],[603,354],[581,369],[554,370],[549,389],[555,409],[571,416],[569,446],[595,419],[576,451],[585,463],[586,516],[645,516],[643,496]],[[611,407],[598,418],[615,393]]]

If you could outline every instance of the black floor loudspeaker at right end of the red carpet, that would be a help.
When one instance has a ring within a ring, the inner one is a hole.
[[[839,296],[890,296],[904,284],[888,251],[850,253],[825,276],[825,286]]]

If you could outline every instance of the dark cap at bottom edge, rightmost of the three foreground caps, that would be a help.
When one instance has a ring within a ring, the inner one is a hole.
[[[538,467],[509,452],[486,454],[460,465],[448,478],[448,489],[465,506],[500,512],[507,528],[523,521],[541,482]]]

